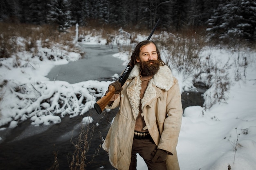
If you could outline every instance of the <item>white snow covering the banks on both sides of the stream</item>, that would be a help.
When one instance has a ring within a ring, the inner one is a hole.
[[[83,43],[106,43],[105,40],[99,39],[101,38],[88,36]],[[145,39],[145,36],[137,37],[138,41]],[[128,43],[121,39],[119,41],[118,43]],[[45,76],[54,65],[76,61],[81,56],[57,47],[51,50],[38,48],[38,51],[40,57],[31,57],[31,53],[23,51],[17,53],[18,57],[0,60],[0,130],[14,128],[26,119],[29,119],[31,124],[40,126],[50,122],[61,123],[64,116],[83,115],[93,108],[96,97],[101,97],[111,83],[92,80],[76,84],[49,81]],[[229,63],[229,67],[225,67],[229,74],[221,80],[228,78],[229,91],[224,94],[225,99],[213,99],[214,94],[219,94],[215,92],[220,90],[220,80],[213,78],[212,88],[204,94],[206,107],[191,106],[184,110],[177,146],[180,168],[228,170],[230,166],[232,170],[255,170],[256,53],[239,51],[241,56],[247,58],[246,68],[235,62],[234,58],[238,56],[238,52],[207,48],[202,55],[207,53],[211,53],[211,58],[220,65]],[[47,59],[50,55],[54,56],[54,60]],[[63,59],[59,56],[63,56]],[[124,63],[128,62],[127,53],[118,53],[114,57],[126,61]],[[118,74],[113,76],[118,77]],[[174,71],[174,75],[180,81],[181,90],[191,88],[190,79],[184,80],[179,72]],[[240,78],[235,81],[235,77]],[[1,141],[4,141],[4,137],[0,136],[0,143]],[[137,169],[147,169],[140,157]]]

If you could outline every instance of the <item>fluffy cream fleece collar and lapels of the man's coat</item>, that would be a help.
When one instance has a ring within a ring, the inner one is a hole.
[[[145,106],[145,104],[147,104],[151,99],[155,98],[157,94],[160,95],[157,88],[162,89],[164,91],[168,91],[173,86],[173,80],[174,80],[174,77],[171,73],[171,69],[166,65],[160,66],[158,72],[153,76],[150,82],[148,82],[148,86],[144,93],[144,97],[140,101],[141,79],[139,76],[139,72],[140,72],[140,66],[139,64],[136,64],[132,68],[132,71],[130,72],[130,75],[128,77],[128,80],[130,79],[133,79],[133,80],[130,86],[127,88],[130,104],[133,110],[135,111],[136,117],[139,114],[140,102],[141,102],[141,108],[143,110],[143,107]],[[157,88],[155,88],[155,86]]]

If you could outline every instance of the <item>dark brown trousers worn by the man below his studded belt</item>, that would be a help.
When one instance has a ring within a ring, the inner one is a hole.
[[[166,170],[166,161],[152,162],[153,156],[157,150],[153,139],[133,139],[132,144],[132,159],[129,170],[136,170],[137,153],[144,159],[148,170]]]

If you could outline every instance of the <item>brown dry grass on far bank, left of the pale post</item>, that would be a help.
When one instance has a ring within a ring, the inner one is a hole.
[[[18,51],[30,51],[36,54],[37,40],[42,41],[42,47],[51,48],[53,44],[61,44],[60,48],[67,51],[78,51],[72,41],[75,36],[75,27],[68,32],[58,32],[51,25],[13,24],[0,22],[0,58],[12,57]],[[17,39],[24,42],[18,44]]]

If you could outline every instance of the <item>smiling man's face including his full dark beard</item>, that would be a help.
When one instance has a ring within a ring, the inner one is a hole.
[[[157,73],[160,65],[157,58],[157,50],[153,43],[141,47],[139,57],[137,57],[136,61],[141,66],[142,75],[155,75]]]

